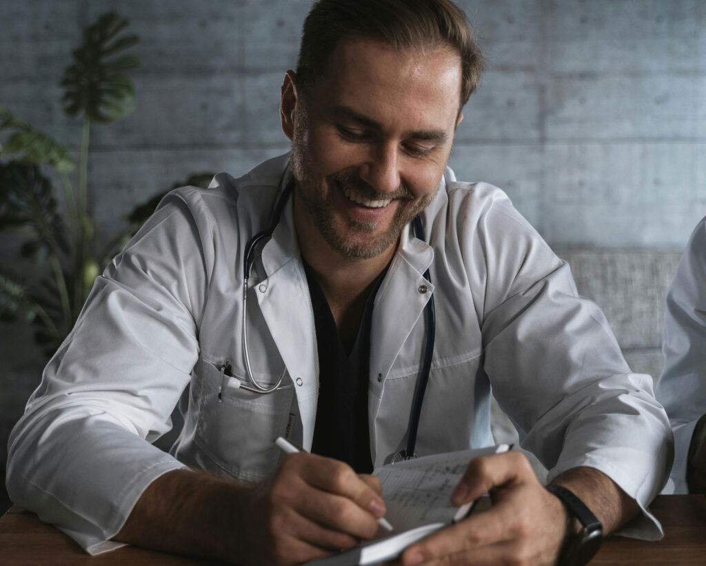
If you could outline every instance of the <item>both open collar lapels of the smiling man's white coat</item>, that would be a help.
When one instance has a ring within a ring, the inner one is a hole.
[[[282,176],[280,191],[291,178],[288,164]],[[444,192],[445,182],[442,178],[437,198]],[[306,450],[310,450],[318,402],[318,350],[309,287],[294,229],[293,203],[294,199],[289,195],[282,219],[272,239],[263,247],[261,262],[265,277],[258,284],[257,298],[277,349],[295,383],[301,416],[301,442]],[[430,226],[425,226],[427,232],[430,229]],[[369,397],[373,458],[377,437],[373,423],[380,406],[384,378],[390,373],[397,354],[433,293],[433,284],[424,277],[432,261],[431,246],[414,235],[412,224],[407,225],[402,230],[388,275],[378,289],[376,308],[373,310],[369,366],[373,393]],[[266,290],[261,292],[261,288]],[[426,291],[421,292],[423,288]],[[281,308],[276,308],[282,304],[290,306],[287,311],[292,313],[291,316],[282,313]],[[392,320],[394,324],[390,323]]]

